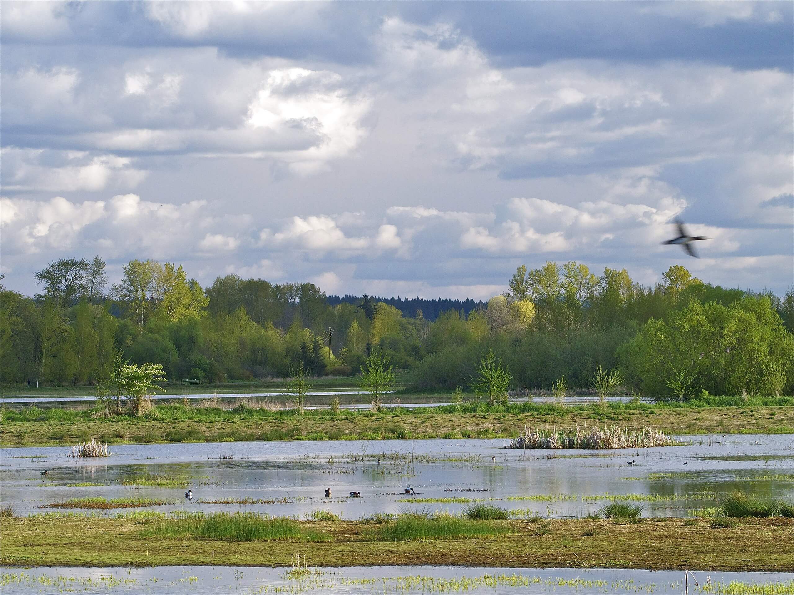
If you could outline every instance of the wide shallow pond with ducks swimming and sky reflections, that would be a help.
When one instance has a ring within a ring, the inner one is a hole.
[[[620,495],[641,501],[643,516],[688,516],[734,489],[794,499],[792,436],[680,440],[687,445],[615,451],[514,451],[503,448],[503,439],[118,444],[107,459],[76,460],[67,458],[66,447],[3,448],[0,482],[2,505],[13,505],[17,516],[84,497],[168,502],[150,508],[157,512],[309,518],[322,509],[349,520],[406,508],[458,512],[467,500],[562,517],[585,516]],[[135,485],[147,476],[175,482]],[[191,503],[184,498],[188,487]],[[323,497],[329,487],[333,496]],[[413,496],[403,493],[407,487]],[[347,497],[352,491],[361,497]],[[255,503],[240,502],[245,499]]]

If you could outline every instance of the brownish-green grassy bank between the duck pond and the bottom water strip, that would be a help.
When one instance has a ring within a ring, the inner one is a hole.
[[[462,538],[425,536],[402,540],[406,533],[391,541],[379,539],[390,536],[384,528],[396,521],[382,526],[351,521],[295,521],[300,526],[298,537],[268,541],[265,546],[261,541],[206,539],[186,534],[152,536],[154,523],[131,518],[3,518],[0,519],[3,545],[0,563],[5,566],[288,566],[291,553],[298,551],[306,555],[309,566],[453,564],[792,570],[790,543],[794,520],[737,519],[734,528],[719,529],[711,529],[706,519],[692,521],[642,520],[632,524],[611,520],[551,520],[548,532],[542,535],[534,530],[537,525],[534,523],[488,521],[483,526],[499,527],[501,534],[490,531]],[[330,540],[314,541],[313,532],[320,539]]]

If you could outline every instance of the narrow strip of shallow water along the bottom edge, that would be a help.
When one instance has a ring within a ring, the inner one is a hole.
[[[683,593],[680,570],[353,566],[309,569],[154,566],[0,568],[3,593]],[[792,585],[788,573],[689,574],[689,593],[721,593],[731,582]],[[697,582],[697,586],[694,584]],[[782,589],[774,591],[780,593]],[[741,593],[742,589],[731,593]],[[772,591],[757,591],[771,593]]]

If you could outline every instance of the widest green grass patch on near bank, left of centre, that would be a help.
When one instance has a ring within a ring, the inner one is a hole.
[[[144,537],[212,539],[215,541],[330,541],[328,535],[304,529],[296,520],[268,518],[253,512],[214,512],[207,516],[158,520]]]

